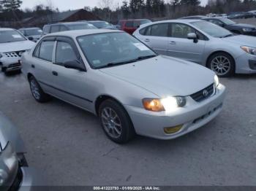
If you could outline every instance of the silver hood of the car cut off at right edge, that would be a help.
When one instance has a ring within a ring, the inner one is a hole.
[[[232,42],[238,44],[240,46],[247,45],[251,47],[255,47],[256,38],[254,36],[246,36],[246,35],[235,35],[227,38],[223,38],[226,42]]]

